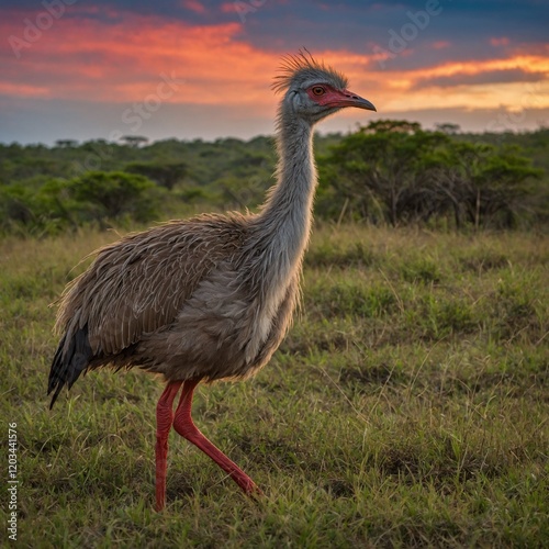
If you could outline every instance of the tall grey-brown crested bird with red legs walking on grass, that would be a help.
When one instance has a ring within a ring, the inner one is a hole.
[[[344,108],[376,111],[307,49],[282,57],[274,184],[256,213],[200,214],[128,234],[94,254],[58,299],[47,394],[102,367],[141,368],[166,382],[156,406],[156,511],[166,505],[173,428],[250,496],[261,490],[194,425],[199,383],[242,380],[271,358],[300,300],[317,186],[313,127]],[[173,411],[173,402],[180,393]]]

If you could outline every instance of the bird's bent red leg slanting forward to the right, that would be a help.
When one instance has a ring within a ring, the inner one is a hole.
[[[233,461],[231,461],[219,448],[200,433],[191,417],[192,393],[198,385],[198,380],[187,380],[181,390],[181,397],[173,418],[173,428],[189,442],[200,448],[206,456],[212,458],[228,475],[242,488],[247,495],[259,495],[261,490],[256,483]]]

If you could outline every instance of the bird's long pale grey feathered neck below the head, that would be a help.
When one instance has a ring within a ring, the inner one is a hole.
[[[273,260],[288,264],[291,270],[301,265],[311,232],[316,189],[313,132],[309,123],[283,111],[279,113],[278,128],[278,181],[269,191],[256,227]]]

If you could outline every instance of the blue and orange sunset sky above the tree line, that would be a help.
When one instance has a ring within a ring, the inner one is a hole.
[[[549,125],[547,0],[2,0],[0,142],[273,133],[281,57],[307,48],[378,119]]]

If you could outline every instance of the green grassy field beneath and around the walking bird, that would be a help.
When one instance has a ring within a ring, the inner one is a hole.
[[[197,424],[265,497],[172,434],[161,514],[157,379],[94,372],[47,410],[48,304],[115,238],[0,244],[18,547],[549,546],[547,237],[317,227],[271,363],[197,392]]]

